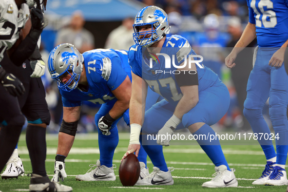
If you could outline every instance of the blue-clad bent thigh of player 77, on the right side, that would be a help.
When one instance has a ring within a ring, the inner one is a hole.
[[[197,105],[183,115],[182,123],[186,128],[199,122],[213,125],[227,113],[229,105],[229,91],[223,83],[220,83],[199,93]]]

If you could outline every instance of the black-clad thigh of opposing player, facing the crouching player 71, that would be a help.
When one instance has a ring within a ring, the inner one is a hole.
[[[50,123],[50,113],[46,102],[46,93],[41,78],[31,78],[30,89],[27,99],[22,107],[22,113],[26,116],[28,123],[41,124]]]

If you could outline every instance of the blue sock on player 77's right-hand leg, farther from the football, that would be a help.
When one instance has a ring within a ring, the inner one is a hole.
[[[199,135],[206,135],[208,137],[208,134],[214,134],[214,130],[207,124],[204,124],[200,129],[198,129],[193,135],[197,135],[198,138]],[[201,138],[201,137],[200,137]],[[220,141],[217,137],[217,139],[210,142],[210,140],[200,140],[197,139],[198,144],[203,149],[203,151],[209,156],[211,161],[214,163],[216,167],[220,165],[225,165],[227,167],[227,170],[230,171],[229,165],[226,161],[226,158],[223,154]]]

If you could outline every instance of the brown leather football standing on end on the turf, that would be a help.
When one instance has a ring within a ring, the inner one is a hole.
[[[120,164],[119,178],[123,186],[134,186],[140,175],[140,164],[134,154],[128,154]]]

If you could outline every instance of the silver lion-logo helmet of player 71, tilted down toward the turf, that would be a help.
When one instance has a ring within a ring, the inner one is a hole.
[[[64,91],[72,91],[77,88],[78,81],[83,71],[84,58],[82,54],[69,43],[60,44],[55,47],[48,58],[48,71],[51,78],[58,80],[58,87]],[[72,76],[65,84],[60,80],[64,73],[71,73]],[[71,82],[73,82],[72,85]]]

